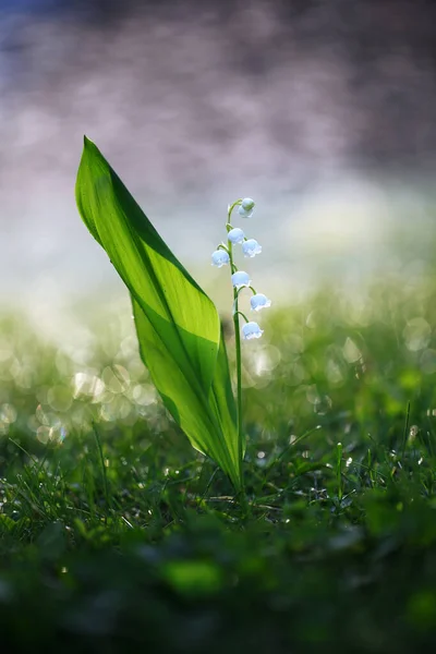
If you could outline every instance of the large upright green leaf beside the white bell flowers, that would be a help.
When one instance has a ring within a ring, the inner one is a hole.
[[[141,355],[192,445],[241,484],[237,411],[217,310],[85,137],[76,202],[128,287]]]

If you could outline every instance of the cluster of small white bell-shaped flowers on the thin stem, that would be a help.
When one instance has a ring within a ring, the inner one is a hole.
[[[211,265],[221,268],[230,264],[231,267],[231,280],[233,284],[233,296],[234,296],[234,308],[233,315],[241,315],[245,325],[242,327],[242,336],[244,339],[250,340],[252,338],[261,338],[264,334],[263,329],[252,320],[249,320],[247,317],[240,311],[238,311],[238,298],[239,293],[244,288],[250,288],[253,295],[251,298],[250,304],[252,311],[261,311],[262,308],[266,308],[271,305],[270,300],[263,293],[257,293],[255,289],[252,287],[252,280],[250,279],[250,275],[244,270],[239,270],[233,262],[233,245],[241,245],[242,253],[244,257],[253,258],[257,254],[261,254],[262,246],[255,239],[247,239],[243,230],[239,227],[233,227],[231,225],[231,214],[234,207],[238,208],[238,214],[241,218],[251,218],[254,211],[254,201],[251,197],[245,197],[244,199],[238,199],[231,206],[228,207],[228,222],[227,222],[227,244],[221,243],[218,245],[217,250],[211,255]]]

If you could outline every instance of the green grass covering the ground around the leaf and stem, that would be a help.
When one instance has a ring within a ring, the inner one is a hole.
[[[263,314],[239,500],[156,398],[126,302],[56,344],[3,312],[4,651],[432,651],[435,280]]]

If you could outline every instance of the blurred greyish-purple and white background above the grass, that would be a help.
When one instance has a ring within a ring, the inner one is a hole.
[[[240,196],[276,302],[420,275],[435,24],[425,0],[0,0],[1,305],[62,331],[71,301],[125,296],[75,207],[84,134],[222,306],[210,253]]]

